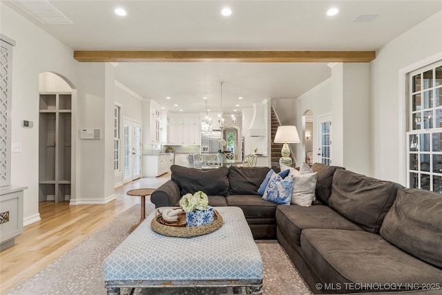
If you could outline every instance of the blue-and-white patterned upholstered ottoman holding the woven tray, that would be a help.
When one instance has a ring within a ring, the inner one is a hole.
[[[239,287],[261,294],[262,259],[244,213],[238,207],[215,209],[222,227],[193,238],[157,234],[151,213],[104,260],[107,294],[119,294],[119,287]]]

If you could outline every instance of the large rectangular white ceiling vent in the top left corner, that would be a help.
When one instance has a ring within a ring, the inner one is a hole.
[[[12,0],[11,2],[40,23],[73,23],[46,0]]]

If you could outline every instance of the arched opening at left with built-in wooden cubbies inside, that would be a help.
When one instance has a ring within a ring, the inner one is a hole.
[[[75,198],[75,102],[66,77],[39,74],[39,202]]]

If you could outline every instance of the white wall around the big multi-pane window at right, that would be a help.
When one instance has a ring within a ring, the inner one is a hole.
[[[370,159],[371,174],[405,185],[400,108],[399,71],[442,52],[442,11],[411,28],[376,51],[370,63]],[[404,167],[405,168],[405,167]],[[402,170],[402,171],[401,171]]]

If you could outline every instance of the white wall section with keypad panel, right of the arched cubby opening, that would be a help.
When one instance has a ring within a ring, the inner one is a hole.
[[[70,204],[106,204],[115,199],[113,118],[115,69],[109,63],[81,63],[78,91],[80,129],[101,129],[99,140],[79,140],[79,193]]]

